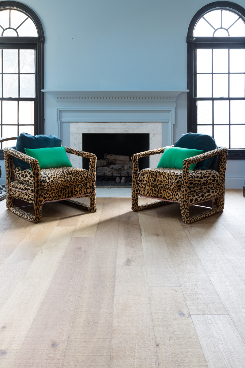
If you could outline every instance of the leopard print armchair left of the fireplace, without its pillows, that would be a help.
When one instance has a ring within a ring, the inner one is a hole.
[[[96,155],[65,147],[67,153],[90,159],[89,171],[75,167],[59,167],[40,170],[39,162],[14,148],[3,149],[6,169],[7,208],[22,219],[37,223],[41,220],[44,203],[64,201],[90,212],[96,212]],[[30,164],[32,170],[14,169],[12,158],[16,157]],[[90,205],[84,205],[74,198],[89,197]],[[34,215],[17,208],[14,199],[24,200],[34,206]]]

